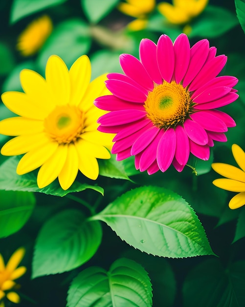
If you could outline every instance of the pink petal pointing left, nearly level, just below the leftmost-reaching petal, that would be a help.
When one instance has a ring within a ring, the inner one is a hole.
[[[135,122],[145,116],[146,112],[141,110],[120,110],[102,115],[97,122],[102,126],[118,126]]]

